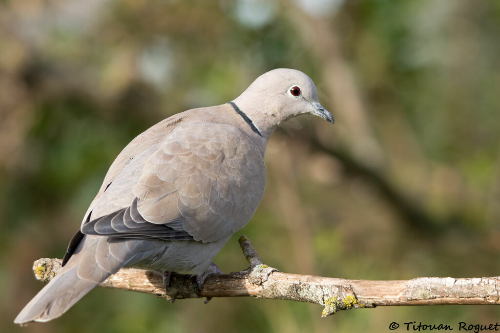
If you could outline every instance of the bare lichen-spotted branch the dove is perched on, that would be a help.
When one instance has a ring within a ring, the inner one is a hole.
[[[151,293],[171,301],[235,296],[298,300],[323,305],[321,316],[359,307],[500,303],[500,276],[370,281],[290,274],[263,264],[246,236],[239,238],[239,244],[250,263],[248,269],[210,275],[201,291],[194,278],[172,273],[167,292],[162,274],[134,268],[120,269],[99,286]],[[49,281],[60,270],[60,262],[51,258],[34,261],[35,277]]]

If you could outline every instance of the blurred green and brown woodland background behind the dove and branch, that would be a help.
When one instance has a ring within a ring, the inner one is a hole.
[[[12,320],[62,257],[107,167],[176,112],[261,73],[309,74],[331,126],[271,138],[245,233],[282,271],[362,278],[500,275],[500,1],[0,0],[0,331],[388,331],[494,323],[497,306],[342,311],[254,298],[169,303],[97,288],[61,318]],[[403,329],[402,327],[399,330]]]

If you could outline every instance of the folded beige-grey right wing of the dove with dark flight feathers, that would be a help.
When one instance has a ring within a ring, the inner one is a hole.
[[[84,223],[81,231],[217,241],[248,222],[264,186],[262,156],[240,130],[181,122],[144,163],[131,204]]]

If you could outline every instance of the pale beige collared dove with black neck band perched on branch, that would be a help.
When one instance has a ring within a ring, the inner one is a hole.
[[[265,146],[281,122],[311,113],[333,123],[304,73],[260,75],[234,100],[172,115],[135,137],[109,167],[61,271],[14,319],[48,321],[121,267],[205,277],[257,209]]]

